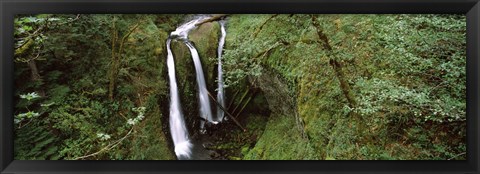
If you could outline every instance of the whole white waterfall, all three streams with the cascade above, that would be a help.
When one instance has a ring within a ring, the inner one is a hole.
[[[196,28],[196,24],[205,20],[207,16],[199,16],[170,33],[167,39],[167,67],[168,76],[170,80],[170,133],[172,134],[173,143],[175,145],[175,154],[178,159],[190,159],[192,144],[190,143],[187,128],[183,118],[182,110],[180,108],[180,98],[178,94],[177,81],[175,77],[175,63],[173,53],[170,49],[172,39],[183,41],[191,52],[193,63],[195,65],[196,79],[198,86],[198,98],[200,100],[200,117],[203,120],[200,122],[200,131],[205,132],[205,121],[217,124],[224,118],[224,112],[219,107],[217,108],[217,118],[214,120],[210,107],[210,100],[208,98],[208,91],[205,83],[205,76],[203,74],[202,63],[200,56],[195,49],[195,46],[188,40],[188,33]],[[222,36],[218,45],[218,93],[217,99],[222,107],[225,107],[224,90],[223,90],[223,70],[222,70],[222,51],[225,43],[225,25],[224,21],[220,21]]]

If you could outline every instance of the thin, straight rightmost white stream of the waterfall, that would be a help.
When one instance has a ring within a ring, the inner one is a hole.
[[[225,108],[225,95],[223,93],[223,69],[222,69],[222,51],[223,51],[223,45],[225,44],[225,36],[227,35],[227,32],[225,31],[225,21],[219,21],[220,23],[220,30],[222,32],[222,36],[220,37],[220,40],[218,41],[218,50],[217,50],[217,55],[218,55],[218,91],[217,91],[217,101],[220,103],[220,105]],[[225,116],[224,111],[220,108],[220,106],[217,106],[217,121],[221,122],[223,120],[223,117]]]

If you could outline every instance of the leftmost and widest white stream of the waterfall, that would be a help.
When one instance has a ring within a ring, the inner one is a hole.
[[[177,78],[175,77],[175,63],[172,50],[170,49],[171,39],[167,40],[167,67],[170,82],[170,133],[172,134],[175,154],[178,159],[189,159],[192,144],[188,138],[187,128],[180,108],[178,96]]]

